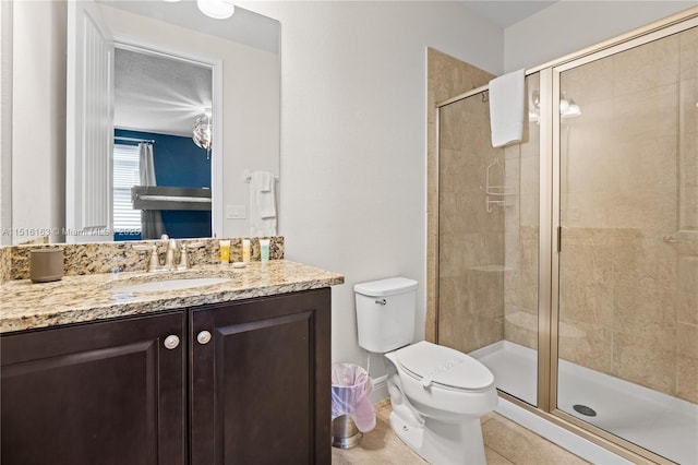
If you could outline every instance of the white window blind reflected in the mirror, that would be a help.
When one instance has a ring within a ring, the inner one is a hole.
[[[131,188],[140,184],[139,146],[113,144],[113,229],[141,230],[141,211],[133,210]]]

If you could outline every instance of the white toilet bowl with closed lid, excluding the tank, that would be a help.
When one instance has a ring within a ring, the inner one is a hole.
[[[390,428],[432,464],[484,464],[480,417],[494,410],[494,375],[472,357],[422,341],[388,353]]]

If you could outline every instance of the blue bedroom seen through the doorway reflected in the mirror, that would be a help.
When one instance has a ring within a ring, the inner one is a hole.
[[[117,45],[113,240],[212,235],[210,145],[193,139],[212,80],[205,64]]]

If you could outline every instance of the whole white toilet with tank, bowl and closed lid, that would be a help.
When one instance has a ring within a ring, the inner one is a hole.
[[[390,427],[432,464],[484,464],[480,417],[497,405],[494,375],[474,358],[426,341],[412,344],[417,282],[354,286],[359,345],[384,353]]]

